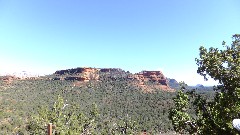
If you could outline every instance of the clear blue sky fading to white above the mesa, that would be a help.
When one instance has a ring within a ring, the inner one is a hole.
[[[162,70],[205,82],[195,58],[240,33],[239,0],[0,0],[0,73]]]

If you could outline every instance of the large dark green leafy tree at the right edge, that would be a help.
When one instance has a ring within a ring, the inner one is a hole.
[[[195,115],[191,116],[190,121],[186,123],[186,119],[174,119],[179,114],[172,113],[173,116],[170,118],[173,123],[193,125],[190,131],[196,131],[198,134],[238,134],[232,126],[232,120],[240,117],[240,35],[233,35],[231,46],[226,45],[225,42],[223,42],[223,46],[225,50],[218,48],[207,50],[200,47],[200,58],[196,59],[197,72],[200,75],[204,76],[206,80],[210,76],[219,81],[220,85],[214,87],[217,92],[214,99],[208,100],[194,91],[179,92],[179,98],[187,95],[192,98],[189,101],[192,101]],[[172,109],[170,112],[174,110],[182,112],[181,109],[178,110],[182,106],[178,102],[175,100],[176,109]],[[184,101],[181,103],[184,104]],[[180,114],[178,117],[184,118],[186,114]],[[175,124],[175,126],[176,131],[184,129],[183,125]],[[184,130],[190,132],[188,129]]]

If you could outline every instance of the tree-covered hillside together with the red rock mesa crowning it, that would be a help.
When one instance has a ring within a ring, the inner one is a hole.
[[[33,118],[39,111],[44,112],[41,108],[53,109],[58,96],[69,105],[66,110],[76,106],[72,111],[82,112],[86,118],[91,117],[92,105],[96,105],[99,115],[93,132],[171,133],[173,126],[168,111],[175,96],[171,85],[179,84],[172,80],[169,85],[170,81],[159,71],[131,74],[121,69],[96,68],[59,70],[37,78],[4,76],[0,88],[0,133],[39,131],[31,123]],[[46,124],[41,125],[43,132]]]

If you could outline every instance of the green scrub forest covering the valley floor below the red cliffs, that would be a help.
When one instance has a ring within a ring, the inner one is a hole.
[[[81,114],[82,119],[89,122],[92,118],[92,104],[97,105],[99,115],[94,119],[96,126],[91,128],[94,133],[138,134],[146,130],[150,134],[157,134],[173,131],[168,111],[173,107],[172,98],[175,93],[157,89],[153,93],[144,93],[129,80],[121,76],[112,79],[106,74],[101,75],[101,81],[90,81],[75,87],[75,82],[72,81],[46,78],[15,80],[10,85],[1,82],[0,134],[30,134],[35,131],[43,133],[42,129],[47,122],[57,123],[52,110],[54,103],[58,101],[58,95],[64,99],[64,104],[69,104],[62,113],[74,112],[72,117],[66,119],[73,119]],[[63,116],[59,118],[60,126],[57,124],[60,129],[62,124],[66,124]],[[41,117],[47,118],[39,121]],[[88,125],[84,120],[78,124]]]

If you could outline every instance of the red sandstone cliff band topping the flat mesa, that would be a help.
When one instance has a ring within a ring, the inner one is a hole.
[[[145,87],[146,89],[162,89],[171,91],[168,85],[167,78],[161,71],[142,71],[137,74],[130,74],[119,68],[75,68],[67,70],[59,70],[55,72],[56,78],[53,80],[73,80],[78,82],[88,82],[90,80],[102,81],[100,79],[100,73],[107,75],[105,77],[116,80],[116,78],[122,78],[135,82],[137,86]],[[148,83],[150,82],[150,85]]]

